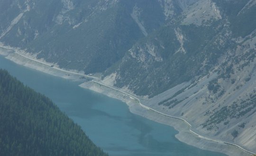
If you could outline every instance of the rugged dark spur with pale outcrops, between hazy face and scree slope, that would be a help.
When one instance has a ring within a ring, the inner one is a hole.
[[[218,65],[218,59],[233,46],[227,19],[222,19],[217,4],[210,0],[183,9],[180,16],[126,52],[116,70],[118,87],[128,86],[138,95],[153,97]],[[146,85],[139,85],[143,82]]]

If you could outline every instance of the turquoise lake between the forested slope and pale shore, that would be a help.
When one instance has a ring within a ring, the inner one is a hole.
[[[180,142],[174,128],[134,115],[124,102],[82,89],[78,82],[17,65],[2,56],[0,68],[52,99],[110,156],[226,156]]]

